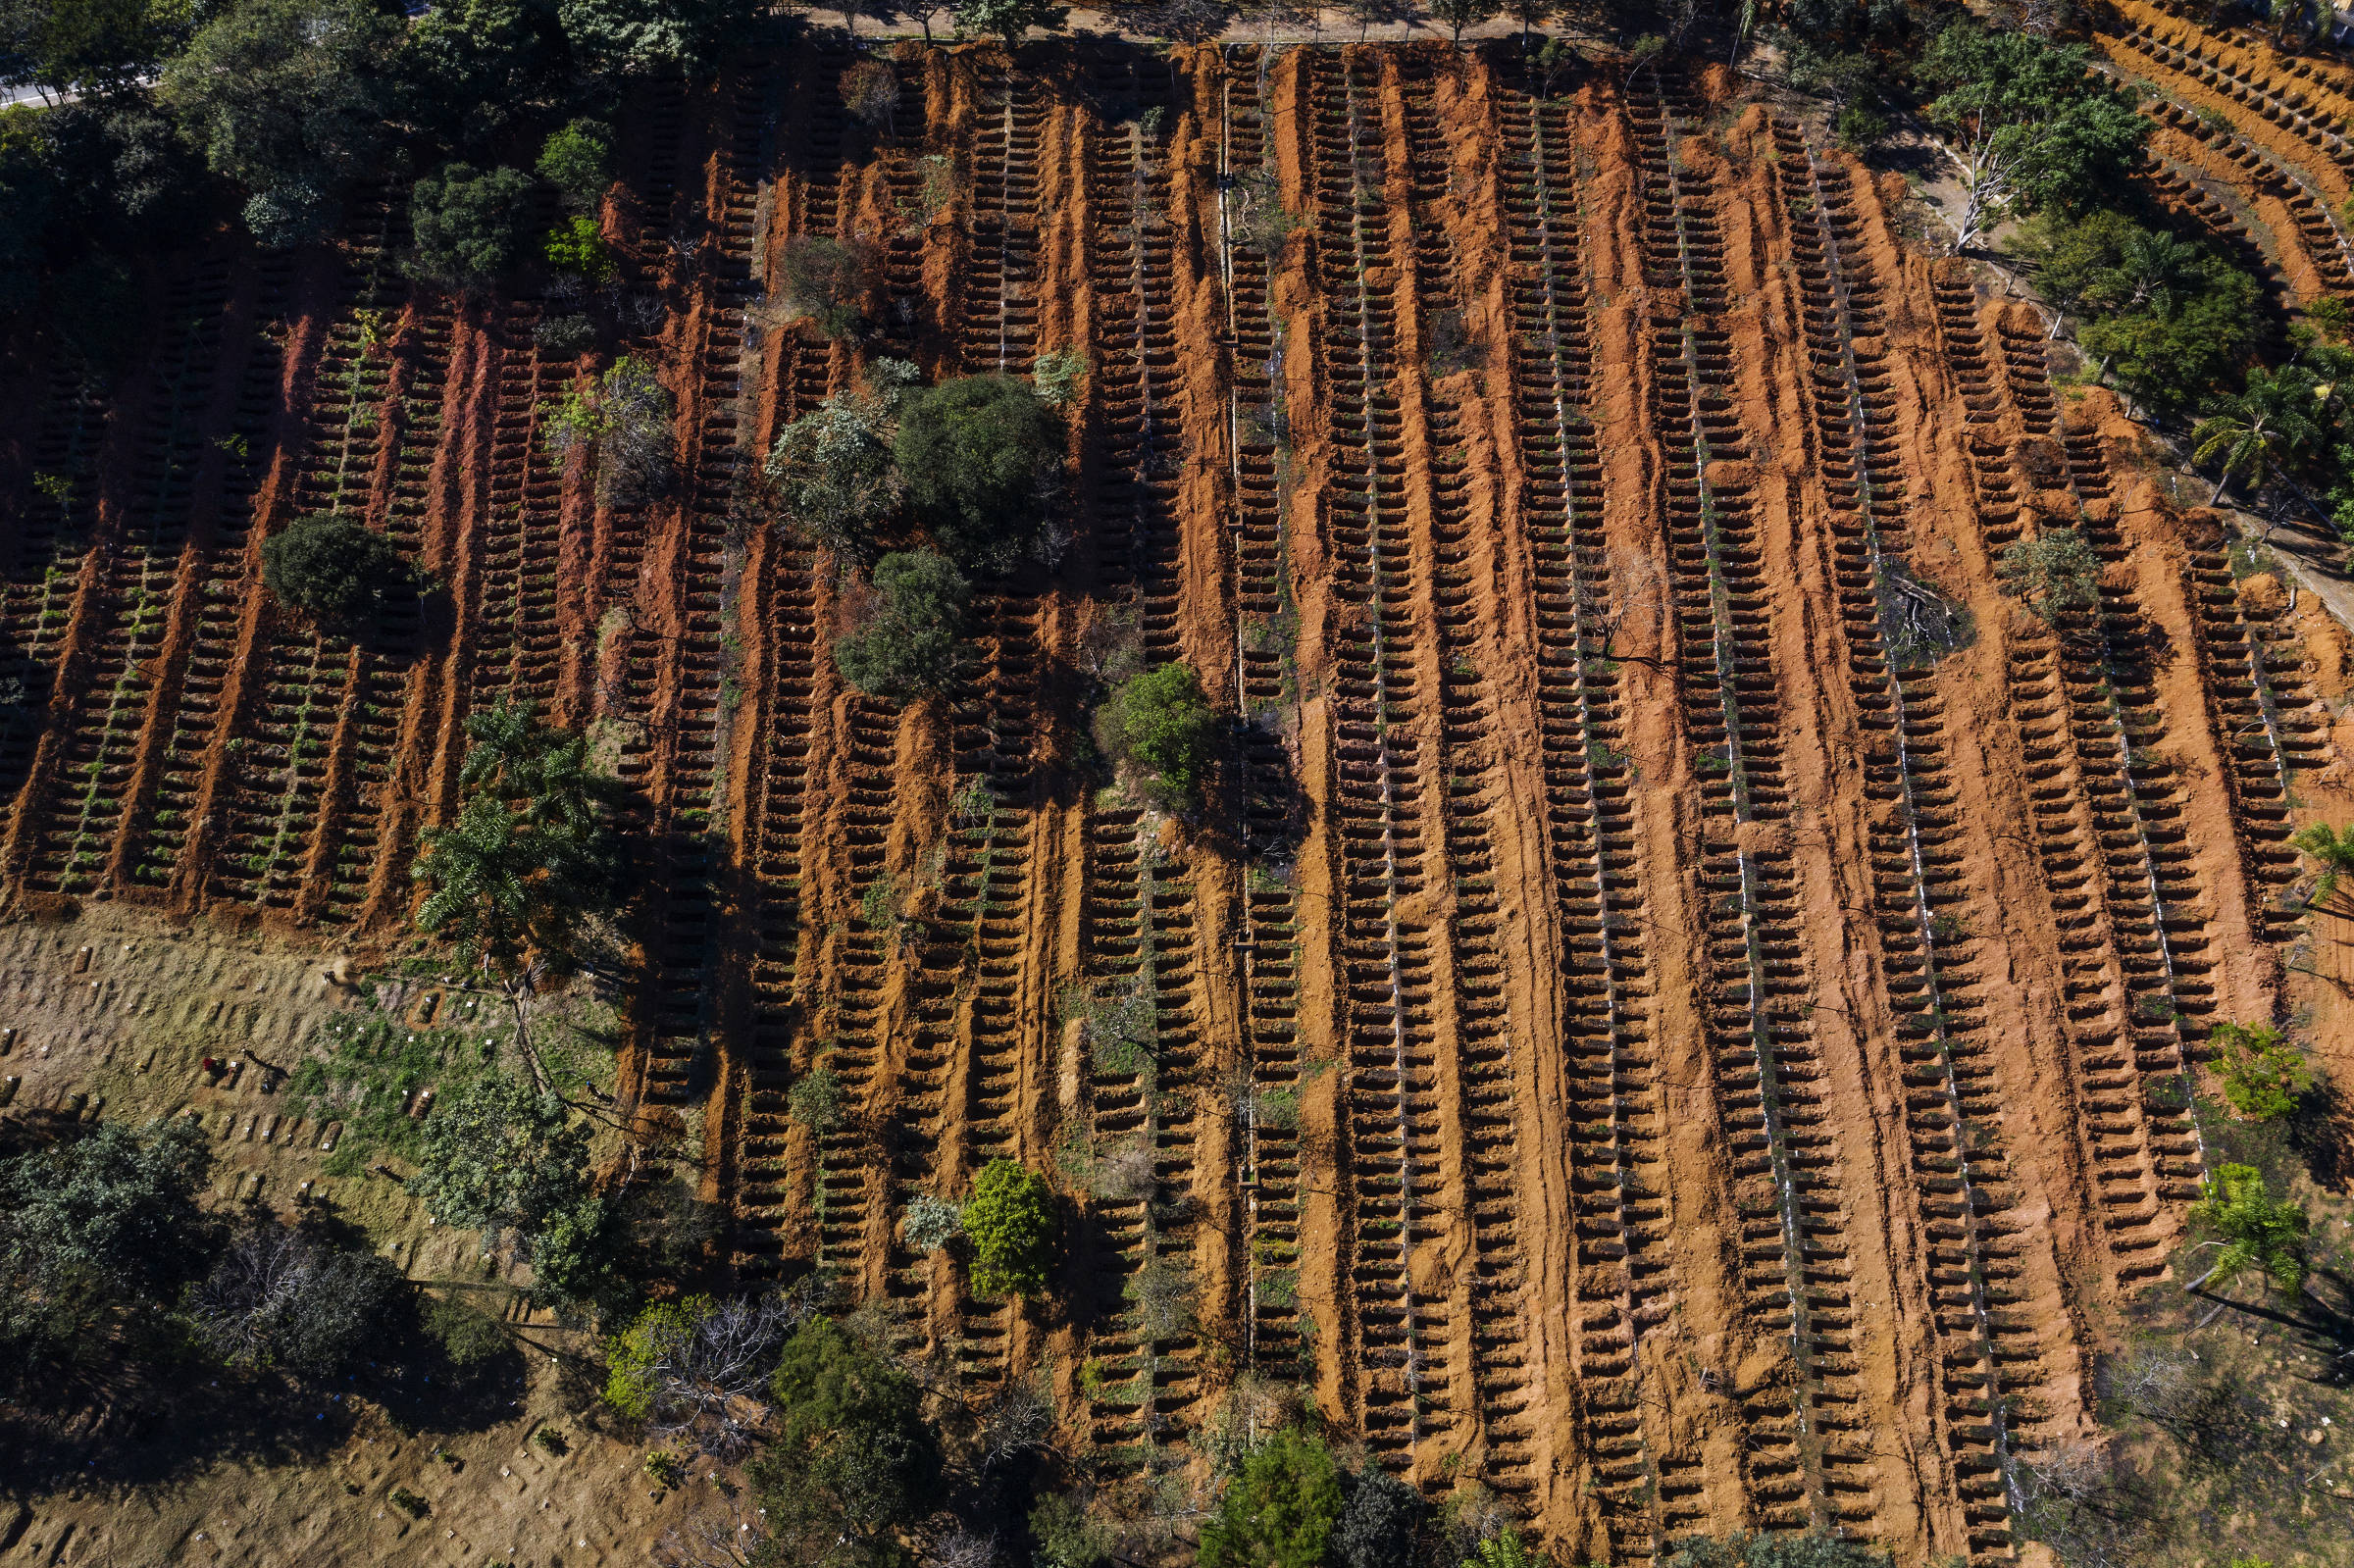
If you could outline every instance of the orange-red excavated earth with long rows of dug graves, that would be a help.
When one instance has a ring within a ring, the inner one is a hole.
[[[2234,574],[1999,275],[1900,238],[1902,181],[1721,71],[902,45],[869,127],[852,64],[619,115],[588,304],[676,396],[650,501],[544,459],[605,356],[532,330],[579,306],[405,283],[393,188],[160,275],[111,384],[9,365],[14,911],[388,958],[461,718],[527,695],[638,791],[624,1092],[732,1278],[831,1269],[975,1406],[1048,1377],[1064,1448],[1161,1495],[1311,1396],[1558,1561],[2013,1559],[2022,1455],[2168,1278],[2208,1029],[2312,1001],[2286,841],[2354,800],[2345,633]],[[2267,170],[2314,144],[2217,104],[2239,139],[2170,120],[2149,177],[2283,304],[2345,287],[2345,160],[2307,193]],[[873,247],[857,346],[772,287],[805,233]],[[1059,565],[984,584],[951,697],[845,690],[774,433],[878,356],[1057,351]],[[327,509],[443,591],[360,645],[290,619],[259,544]],[[2048,626],[1996,565],[2050,525],[2102,600]],[[1236,720],[1198,815],[1092,763],[1137,659]],[[64,996],[75,946],[12,965]],[[129,1114],[89,1085],[132,1015],[28,1012],[9,1114]],[[1050,1307],[899,1234],[996,1156],[1069,1194]]]

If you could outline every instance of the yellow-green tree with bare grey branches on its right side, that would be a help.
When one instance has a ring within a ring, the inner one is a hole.
[[[739,1455],[765,1420],[760,1394],[807,1302],[786,1295],[654,1302],[605,1342],[605,1403],[657,1441],[692,1434],[701,1453]]]

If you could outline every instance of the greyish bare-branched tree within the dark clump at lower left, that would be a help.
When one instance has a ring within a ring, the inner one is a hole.
[[[315,1227],[261,1217],[188,1295],[195,1337],[228,1366],[334,1377],[384,1330],[400,1274]]]

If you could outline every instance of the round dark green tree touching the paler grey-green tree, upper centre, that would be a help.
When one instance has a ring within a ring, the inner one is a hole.
[[[967,572],[1005,572],[1045,544],[1064,426],[1029,381],[960,377],[913,393],[892,450],[909,499]]]

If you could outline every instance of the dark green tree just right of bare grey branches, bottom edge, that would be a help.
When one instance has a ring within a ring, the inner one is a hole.
[[[913,1380],[814,1316],[784,1347],[770,1391],[777,1441],[746,1479],[774,1542],[763,1561],[883,1568],[904,1561],[892,1533],[942,1495],[939,1439]]]

